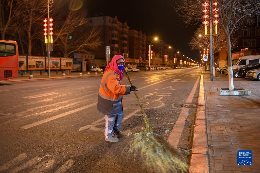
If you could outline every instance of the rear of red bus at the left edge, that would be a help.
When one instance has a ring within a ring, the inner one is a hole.
[[[0,40],[0,80],[18,77],[18,47],[16,41]]]

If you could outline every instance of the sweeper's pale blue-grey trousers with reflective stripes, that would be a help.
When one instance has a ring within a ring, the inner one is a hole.
[[[116,116],[104,115],[105,119],[105,136],[106,138],[110,138],[114,134],[114,130],[120,131],[120,124],[123,120],[124,112],[122,111],[120,114]]]

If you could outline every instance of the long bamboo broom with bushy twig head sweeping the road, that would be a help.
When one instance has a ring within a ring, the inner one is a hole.
[[[125,67],[124,70],[130,85],[133,86]],[[134,91],[134,94],[144,115],[143,119],[146,128],[142,132],[129,133],[127,135],[129,136],[133,134],[133,140],[128,143],[128,153],[134,153],[135,157],[135,154],[140,151],[143,163],[150,168],[154,168],[156,172],[187,172],[189,166],[184,155],[179,149],[171,146],[167,141],[165,141],[152,127],[136,91]]]

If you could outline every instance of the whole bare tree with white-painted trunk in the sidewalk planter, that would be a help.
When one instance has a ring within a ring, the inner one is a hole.
[[[259,0],[216,0],[219,11],[219,25],[225,33],[228,48],[229,89],[234,89],[232,59],[231,59],[231,35],[246,24],[252,24],[260,15]],[[180,16],[186,24],[198,23],[202,20],[203,12],[201,0],[181,0],[178,5]],[[213,6],[215,8],[215,6]]]

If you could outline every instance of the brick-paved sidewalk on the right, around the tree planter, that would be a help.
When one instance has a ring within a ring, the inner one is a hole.
[[[208,79],[203,72],[207,135],[211,173],[260,172],[260,82],[234,79],[235,88],[246,88],[250,96],[219,96],[217,88],[228,88],[228,77]],[[252,150],[253,164],[237,164],[238,150]]]

